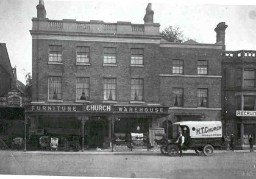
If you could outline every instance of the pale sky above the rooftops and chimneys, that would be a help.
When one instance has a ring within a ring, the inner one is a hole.
[[[5,43],[18,80],[26,84],[25,74],[32,72],[33,17],[39,0],[0,0],[0,43]],[[184,37],[198,43],[216,43],[216,25],[226,22],[226,50],[256,51],[256,2],[183,1],[183,0],[77,0],[44,1],[46,18],[77,21],[102,20],[106,23],[129,21],[143,24],[148,3],[152,3],[154,23],[160,30],[177,26]]]

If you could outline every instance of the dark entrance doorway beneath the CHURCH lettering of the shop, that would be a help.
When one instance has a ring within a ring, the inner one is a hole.
[[[87,131],[87,146],[101,148],[105,141],[105,122],[89,120],[85,124],[85,130]]]

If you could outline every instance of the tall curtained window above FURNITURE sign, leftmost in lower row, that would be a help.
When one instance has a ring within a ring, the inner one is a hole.
[[[49,77],[48,80],[49,99],[62,99],[62,77]]]

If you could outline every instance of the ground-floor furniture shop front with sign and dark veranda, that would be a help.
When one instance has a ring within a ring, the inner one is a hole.
[[[166,107],[110,104],[27,105],[24,150],[50,150],[53,138],[57,138],[57,149],[66,151],[115,150],[131,143],[143,148],[150,141],[149,129],[167,112]]]

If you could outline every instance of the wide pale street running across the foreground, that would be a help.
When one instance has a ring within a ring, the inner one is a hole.
[[[128,178],[256,178],[256,152],[193,150],[171,157],[159,151],[0,151],[0,174]],[[1,177],[1,175],[0,175]]]

